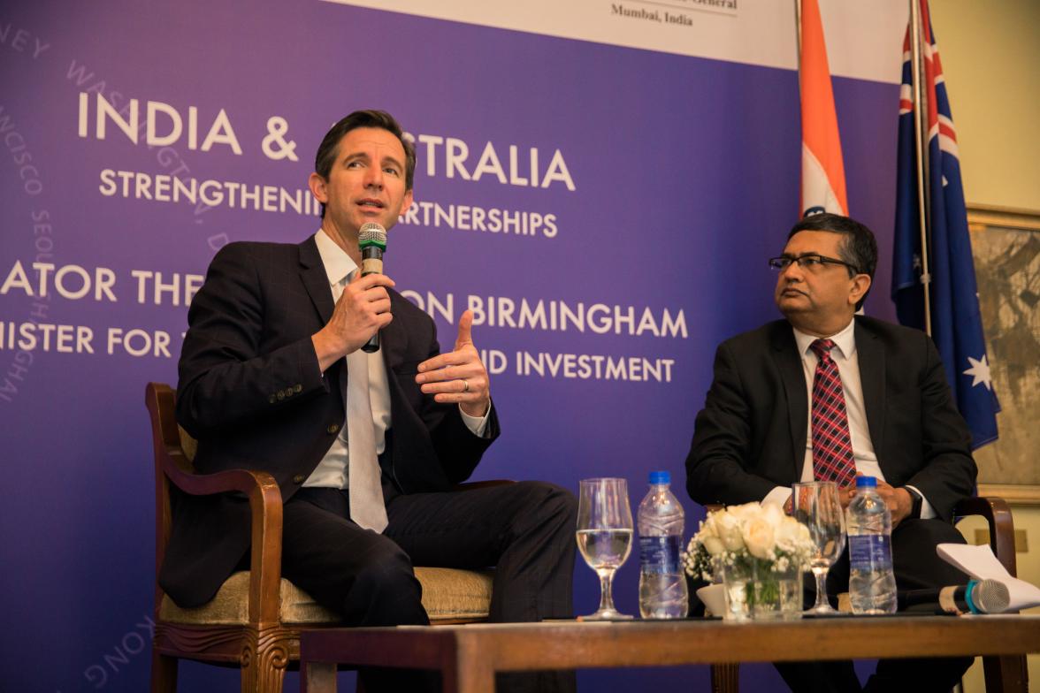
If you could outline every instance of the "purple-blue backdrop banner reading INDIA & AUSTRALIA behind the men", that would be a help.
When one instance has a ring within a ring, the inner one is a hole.
[[[687,535],[696,529],[683,459],[712,354],[775,316],[765,259],[798,214],[794,12],[676,2],[669,21],[581,0],[583,14],[568,8],[553,31],[393,4],[400,11],[317,0],[0,10],[0,648],[18,663],[5,690],[146,689],[145,384],[176,382],[187,305],[220,246],[317,230],[314,152],[359,108],[392,112],[418,150],[416,204],[390,232],[387,273],[436,319],[442,344],[464,310],[475,314],[503,431],[476,477],[576,490],[621,476],[634,507],[647,473],[668,470]],[[825,17],[838,4],[822,3]],[[894,22],[893,35],[872,34],[879,55],[898,57]],[[856,59],[839,48],[832,63]],[[891,247],[898,64],[840,74],[851,75],[834,81],[851,213]],[[882,259],[879,275],[889,271]],[[867,311],[890,317],[883,292]],[[628,613],[636,563],[615,587]],[[597,599],[579,560],[575,609]],[[236,676],[183,665],[181,690],[234,690]],[[579,682],[607,685],[597,671]],[[770,690],[779,678],[753,667],[744,683]],[[612,672],[609,685],[706,691],[708,676]]]

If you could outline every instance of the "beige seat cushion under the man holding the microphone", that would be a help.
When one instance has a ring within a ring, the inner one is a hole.
[[[482,619],[488,617],[493,570],[415,568],[422,584],[422,606],[430,620]],[[250,574],[228,578],[211,602],[194,609],[182,609],[163,595],[159,617],[171,623],[240,624],[249,621]],[[338,614],[329,611],[311,595],[286,579],[280,588],[283,623],[336,623]]]

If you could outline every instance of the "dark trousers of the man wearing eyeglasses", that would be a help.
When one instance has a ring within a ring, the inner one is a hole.
[[[964,543],[961,533],[941,519],[905,519],[892,531],[892,567],[900,590],[942,587],[967,582],[963,572],[935,553],[939,543]],[[849,590],[849,551],[838,559],[827,576],[827,591],[831,603],[836,595]],[[816,598],[815,582],[807,583],[806,605]],[[792,691],[913,691],[914,693],[948,692],[969,666],[971,658],[880,660],[877,671],[859,685],[851,661],[795,662],[777,664],[777,670]]]

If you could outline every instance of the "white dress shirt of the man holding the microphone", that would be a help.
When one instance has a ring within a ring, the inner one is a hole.
[[[321,229],[314,235],[314,242],[318,246],[318,255],[321,257],[321,264],[324,265],[326,274],[329,276],[329,287],[332,291],[333,301],[338,301],[343,294],[343,289],[350,281],[358,265],[346,255],[343,248],[339,247],[334,240]],[[375,454],[382,455],[386,450],[386,433],[390,428],[390,382],[387,379],[386,365],[383,363],[383,353],[375,351],[368,355],[368,396],[372,403],[372,426],[375,428]],[[490,414],[490,408],[488,414]],[[484,435],[488,427],[488,414],[480,418],[471,417],[462,410],[463,422],[475,435]],[[333,442],[329,452],[321,458],[318,465],[314,468],[311,476],[304,481],[304,486],[321,486],[332,488],[346,488],[349,483],[347,465],[350,463],[349,448],[346,439],[346,421],[339,428],[339,435]]]

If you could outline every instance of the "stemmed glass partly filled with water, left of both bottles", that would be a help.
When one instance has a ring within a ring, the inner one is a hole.
[[[632,510],[624,479],[583,479],[578,482],[577,541],[581,557],[599,576],[599,610],[582,620],[631,618],[614,608],[614,574],[632,549]]]

